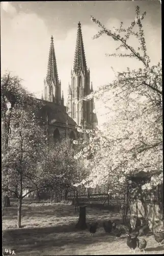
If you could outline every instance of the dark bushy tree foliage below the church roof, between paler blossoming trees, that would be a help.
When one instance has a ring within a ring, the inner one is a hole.
[[[50,145],[42,162],[42,187],[46,190],[73,189],[77,181],[86,177],[82,161],[74,159],[75,148],[70,139]]]

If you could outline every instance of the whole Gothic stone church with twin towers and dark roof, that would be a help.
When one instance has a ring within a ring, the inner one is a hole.
[[[62,93],[61,93],[62,92]],[[64,105],[62,83],[58,76],[57,60],[54,51],[53,37],[50,39],[47,74],[44,79],[44,91],[41,110],[37,117],[46,123],[47,137],[50,142],[62,138],[76,139],[76,126],[94,129],[98,123],[94,110],[94,99],[81,100],[93,92],[90,82],[90,69],[87,68],[81,24],[78,23],[76,48],[71,84],[68,85],[68,103]]]

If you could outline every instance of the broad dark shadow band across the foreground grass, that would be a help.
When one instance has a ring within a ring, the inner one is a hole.
[[[79,246],[90,245],[98,242],[111,243],[116,238],[107,233],[95,233],[90,236],[89,230],[79,231],[75,223],[70,225],[42,227],[31,229],[12,229],[3,232],[3,247],[14,247],[18,252],[44,250],[50,247],[71,245],[76,249]]]

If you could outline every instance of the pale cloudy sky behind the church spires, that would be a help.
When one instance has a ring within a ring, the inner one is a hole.
[[[43,91],[50,37],[54,38],[59,79],[67,103],[68,83],[71,81],[77,24],[83,33],[87,66],[93,89],[111,82],[115,71],[138,67],[129,59],[106,57],[114,53],[116,42],[107,36],[93,40],[99,28],[93,15],[108,29],[128,26],[135,17],[135,6],[147,12],[143,25],[151,62],[161,59],[161,4],[153,1],[54,1],[1,2],[1,71],[10,71],[23,79],[22,84],[36,97]],[[132,42],[136,46],[136,42]]]

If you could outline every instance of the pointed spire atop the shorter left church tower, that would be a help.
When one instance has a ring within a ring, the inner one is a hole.
[[[51,36],[46,82],[49,83],[50,81],[53,81],[54,85],[56,85],[58,83],[58,80],[59,79],[58,79],[57,61],[54,53],[53,36]]]

